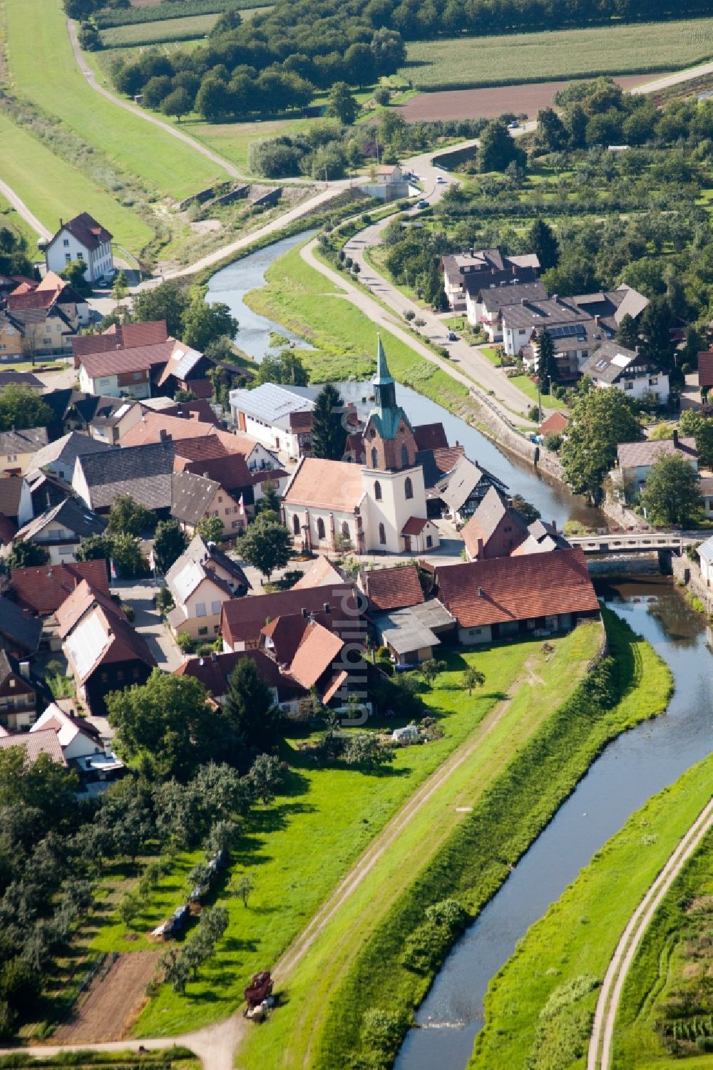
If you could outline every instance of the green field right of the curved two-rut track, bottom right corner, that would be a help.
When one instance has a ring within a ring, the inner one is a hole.
[[[701,763],[696,773],[694,790],[689,791],[692,799],[697,798],[696,793],[706,785],[710,796],[713,759]],[[669,795],[666,800],[669,809],[679,798],[679,784],[673,795],[674,799]],[[668,1021],[673,1028],[677,1024],[703,1026],[702,1036],[713,1034],[708,980],[712,976],[713,956],[706,935],[711,915],[710,905],[704,906],[713,902],[712,862],[713,832],[709,832],[671,885],[647,929],[622,991],[615,1029],[612,1066],[616,1070],[673,1065],[676,1052],[666,1050],[657,1028],[662,1021]],[[692,910],[694,901],[699,904],[697,910]],[[676,1059],[677,1066],[691,1065],[695,1041],[693,1037],[686,1037],[685,1041]],[[670,1037],[668,1042],[671,1042]],[[684,1055],[685,1059],[681,1058]]]

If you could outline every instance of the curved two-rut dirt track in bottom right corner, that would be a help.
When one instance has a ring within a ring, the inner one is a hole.
[[[613,1028],[621,993],[639,944],[656,913],[656,908],[681,872],[682,867],[711,828],[713,828],[713,799],[696,819],[676,851],[672,852],[624,929],[605,974],[596,1004],[587,1056],[587,1070],[609,1070]]]

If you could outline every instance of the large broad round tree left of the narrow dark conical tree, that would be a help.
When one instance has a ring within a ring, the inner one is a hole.
[[[188,780],[213,752],[215,714],[191,676],[154,669],[146,684],[108,694],[106,705],[121,753],[145,756],[162,780]]]

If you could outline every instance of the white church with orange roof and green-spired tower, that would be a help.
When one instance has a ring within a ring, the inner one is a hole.
[[[346,437],[346,432],[345,432]],[[439,545],[426,515],[411,423],[396,404],[396,386],[379,337],[374,407],[363,431],[364,464],[303,457],[283,498],[297,550],[426,553]]]

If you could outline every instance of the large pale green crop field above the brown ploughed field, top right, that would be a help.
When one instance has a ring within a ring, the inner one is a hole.
[[[419,41],[399,74],[416,89],[465,89],[693,66],[713,56],[713,18]]]

